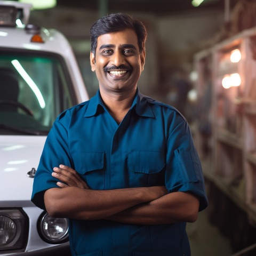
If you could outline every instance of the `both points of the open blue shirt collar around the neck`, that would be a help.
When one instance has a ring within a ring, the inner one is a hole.
[[[155,117],[147,99],[148,97],[141,94],[137,88],[137,92],[135,94],[135,98],[133,100],[131,109],[135,108],[135,111],[139,116]],[[105,109],[105,106],[100,97],[100,91],[98,90],[97,94],[90,99],[88,107],[85,111],[84,117],[91,117],[96,115],[97,111],[100,108]]]

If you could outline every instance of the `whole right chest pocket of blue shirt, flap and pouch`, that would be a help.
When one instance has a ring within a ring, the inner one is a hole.
[[[130,187],[164,185],[165,155],[158,151],[132,151],[128,156]]]

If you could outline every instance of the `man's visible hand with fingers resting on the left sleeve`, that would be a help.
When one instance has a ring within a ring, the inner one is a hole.
[[[53,168],[52,176],[58,180],[65,182],[57,182],[60,188],[77,187],[90,189],[86,182],[79,176],[79,174],[69,166],[60,164],[59,167]]]

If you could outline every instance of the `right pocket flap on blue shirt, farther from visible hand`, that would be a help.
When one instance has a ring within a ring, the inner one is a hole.
[[[159,151],[132,151],[128,157],[128,165],[132,172],[158,173],[165,166],[165,157]]]

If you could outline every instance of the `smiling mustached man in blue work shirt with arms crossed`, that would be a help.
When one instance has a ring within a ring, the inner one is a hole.
[[[137,89],[145,41],[130,15],[95,22],[99,91],[63,112],[47,137],[32,201],[69,218],[73,255],[190,255],[186,222],[207,206],[186,120]]]

